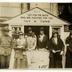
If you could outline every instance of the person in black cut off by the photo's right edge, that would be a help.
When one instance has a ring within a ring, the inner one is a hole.
[[[66,68],[72,68],[72,32],[66,38],[67,52],[66,52]]]

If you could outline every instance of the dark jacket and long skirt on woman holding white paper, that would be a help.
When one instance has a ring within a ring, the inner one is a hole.
[[[53,42],[53,38],[49,40],[48,44],[50,50],[50,68],[61,68],[62,67],[62,56],[60,52],[63,51],[64,44],[60,38],[57,39],[57,44]],[[58,51],[57,53],[53,53],[52,50]]]

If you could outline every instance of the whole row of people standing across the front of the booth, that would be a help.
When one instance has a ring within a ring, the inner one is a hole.
[[[31,27],[28,28],[27,34],[19,32],[17,38],[11,38],[8,33],[8,28],[2,28],[2,36],[0,37],[0,68],[9,68],[12,49],[15,51],[14,68],[28,68],[31,61],[30,56],[36,50],[49,52],[48,68],[62,68],[62,56],[65,45],[58,32],[53,33],[50,39],[45,35],[43,27],[40,28],[38,36],[35,35]],[[65,67],[72,68],[72,33],[66,38],[65,42],[67,46]]]

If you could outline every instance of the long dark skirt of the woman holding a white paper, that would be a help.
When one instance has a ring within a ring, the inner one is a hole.
[[[50,53],[49,68],[62,68],[62,55],[59,53]]]

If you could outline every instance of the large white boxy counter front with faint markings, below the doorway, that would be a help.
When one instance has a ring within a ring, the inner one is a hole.
[[[28,59],[28,69],[49,68],[49,51],[46,49],[28,51],[27,59]]]

